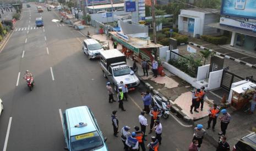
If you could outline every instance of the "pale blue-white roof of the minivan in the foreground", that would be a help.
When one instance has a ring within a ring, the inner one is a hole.
[[[96,131],[87,106],[66,109],[66,116],[70,129],[70,136]],[[79,123],[86,123],[87,125],[83,127],[75,127],[75,125],[78,125]]]

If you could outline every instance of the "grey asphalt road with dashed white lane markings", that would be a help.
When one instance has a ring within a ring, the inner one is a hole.
[[[35,7],[35,4],[31,8],[24,5],[22,19],[16,24],[20,30],[14,30],[0,53],[0,97],[4,104],[0,149],[64,150],[59,113],[86,105],[107,136],[109,150],[122,150],[121,138],[113,136],[111,112],[118,110],[120,127],[139,125],[138,115],[143,108],[140,92],[145,91],[144,86],[129,93],[128,102],[124,102],[126,112],[118,109],[118,103],[109,104],[107,80],[99,62],[88,60],[81,51],[84,37],[73,28],[54,22],[53,19],[59,19],[57,11],[45,10],[40,14]],[[35,19],[41,15],[45,26],[34,29]],[[22,78],[26,69],[35,76],[32,91]],[[183,126],[173,117],[161,119],[161,123],[163,140],[159,150],[188,150],[193,127]],[[204,141],[202,150],[214,150],[214,147]]]

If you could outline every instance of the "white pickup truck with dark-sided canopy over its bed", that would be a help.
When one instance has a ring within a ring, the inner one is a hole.
[[[119,50],[111,49],[100,52],[100,67],[115,91],[122,81],[128,88],[128,91],[135,90],[140,85],[138,77],[132,71],[132,68],[126,64],[126,56]]]

